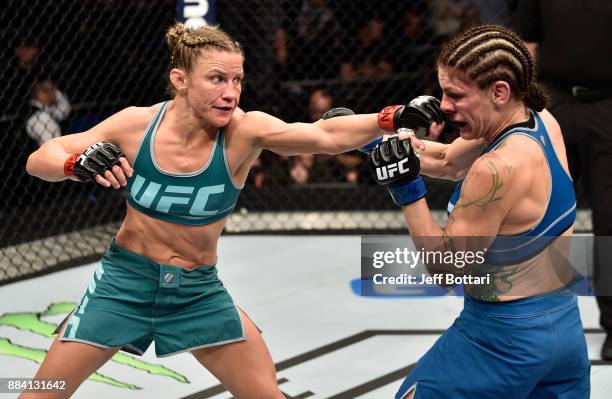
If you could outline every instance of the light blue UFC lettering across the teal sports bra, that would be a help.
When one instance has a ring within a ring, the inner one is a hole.
[[[211,195],[222,194],[225,191],[225,184],[197,188],[190,186],[164,186],[154,181],[149,181],[142,195],[137,197],[146,182],[144,177],[136,175],[130,190],[130,195],[134,202],[143,208],[171,213],[170,209],[172,206],[183,205],[189,207],[187,214],[191,216],[211,216],[224,210],[205,210],[205,208]],[[157,205],[155,208],[152,208],[151,205],[154,203],[157,203]],[[185,214],[185,211],[175,210],[172,213]]]

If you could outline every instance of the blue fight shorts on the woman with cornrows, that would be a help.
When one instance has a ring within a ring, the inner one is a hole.
[[[591,364],[569,291],[503,303],[465,297],[453,325],[395,395],[416,399],[587,399]]]

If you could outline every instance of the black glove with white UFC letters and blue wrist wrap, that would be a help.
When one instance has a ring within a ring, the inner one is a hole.
[[[396,136],[382,142],[369,157],[369,166],[376,182],[387,186],[396,205],[407,205],[427,194],[419,172],[421,163],[409,139]]]

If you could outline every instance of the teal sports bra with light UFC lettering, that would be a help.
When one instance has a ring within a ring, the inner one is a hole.
[[[139,212],[167,222],[203,226],[230,214],[242,187],[235,186],[227,162],[223,129],[217,130],[210,158],[192,173],[170,173],[155,160],[153,143],[168,102],[155,114],[128,178],[128,203]]]

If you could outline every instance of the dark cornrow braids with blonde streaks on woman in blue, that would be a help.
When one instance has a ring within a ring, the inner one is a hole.
[[[482,25],[461,33],[444,45],[436,63],[466,73],[480,88],[506,81],[527,107],[541,111],[546,106],[533,58],[510,29]]]

